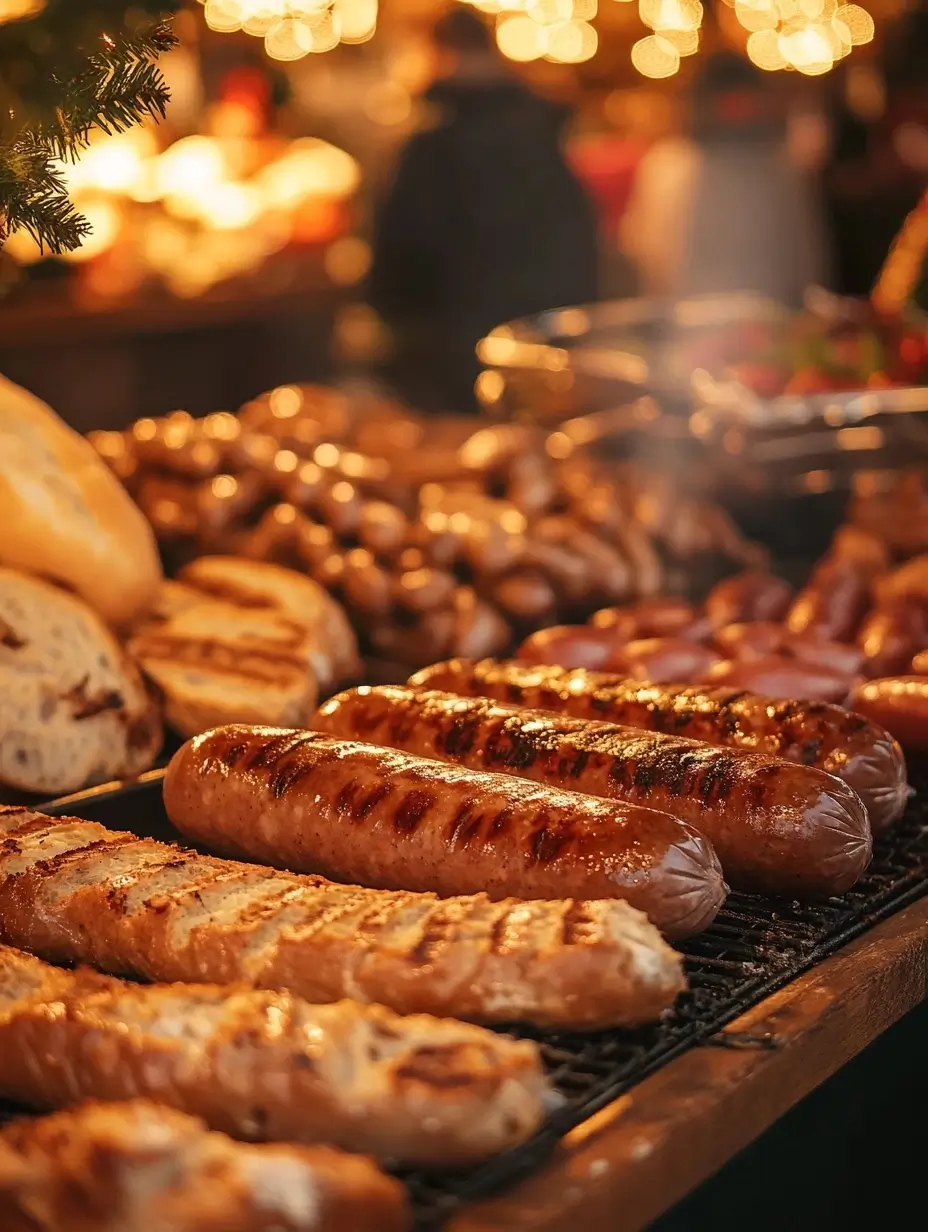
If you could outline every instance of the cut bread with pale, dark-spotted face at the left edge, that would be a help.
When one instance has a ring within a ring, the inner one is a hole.
[[[96,612],[0,568],[0,784],[57,796],[147,770],[158,708]]]

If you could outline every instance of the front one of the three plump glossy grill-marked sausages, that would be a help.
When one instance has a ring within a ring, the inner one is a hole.
[[[665,813],[319,733],[191,742],[164,802],[212,849],[380,890],[624,898],[669,936],[700,931],[725,897],[711,846]]]

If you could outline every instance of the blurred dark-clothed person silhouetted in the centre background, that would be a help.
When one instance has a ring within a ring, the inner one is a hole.
[[[394,338],[397,392],[470,413],[488,330],[596,298],[596,219],[562,149],[567,110],[507,68],[472,10],[456,6],[434,37],[430,123],[377,212],[370,294]]]

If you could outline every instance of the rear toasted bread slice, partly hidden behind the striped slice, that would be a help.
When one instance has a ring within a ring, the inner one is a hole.
[[[245,607],[275,607],[308,636],[323,692],[360,674],[357,642],[341,606],[312,578],[277,564],[235,556],[203,556],[179,573],[186,586]]]

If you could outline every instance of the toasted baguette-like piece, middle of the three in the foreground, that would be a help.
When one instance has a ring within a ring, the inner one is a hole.
[[[445,1165],[529,1137],[545,1093],[534,1044],[452,1019],[131,984],[0,946],[0,1094],[31,1108],[145,1095],[237,1138]]]

